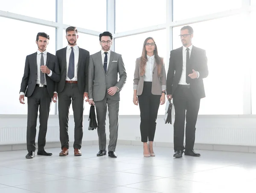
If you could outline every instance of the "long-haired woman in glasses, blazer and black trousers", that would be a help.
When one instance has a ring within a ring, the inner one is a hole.
[[[140,106],[140,134],[144,157],[155,156],[154,134],[159,104],[165,103],[166,71],[152,37],[145,39],[134,71],[134,105]],[[137,97],[138,96],[138,97]]]

